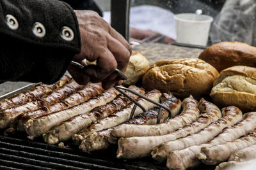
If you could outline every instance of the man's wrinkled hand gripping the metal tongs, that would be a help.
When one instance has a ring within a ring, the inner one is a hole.
[[[120,76],[116,68],[125,71],[131,56],[129,43],[94,11],[75,11],[81,34],[81,53],[74,61],[83,64],[84,69],[70,65],[68,72],[77,83],[102,82],[104,89],[115,85]],[[97,60],[97,65],[83,62]]]

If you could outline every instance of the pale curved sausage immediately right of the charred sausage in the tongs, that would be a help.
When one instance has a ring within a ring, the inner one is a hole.
[[[179,104],[178,104],[179,105]],[[198,102],[192,97],[184,99],[182,102],[183,111],[180,115],[170,118],[163,124],[157,125],[133,125],[124,124],[118,125],[111,132],[111,138],[128,138],[132,136],[159,136],[169,134],[180,127],[184,127],[186,124],[191,124],[198,118],[200,111],[198,110]],[[176,103],[173,103],[173,108],[177,107]],[[172,109],[171,109],[172,110]],[[112,139],[113,141],[113,139]]]

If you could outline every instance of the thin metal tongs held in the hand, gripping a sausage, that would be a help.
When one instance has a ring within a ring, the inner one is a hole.
[[[76,65],[78,67],[80,67],[81,69],[83,69],[83,65],[80,64],[79,62],[74,62],[72,61],[71,64],[73,65]],[[119,69],[115,69],[116,73],[118,73],[121,77],[121,80],[127,80],[127,76],[122,72],[120,71]],[[115,85],[114,88],[116,90],[118,90],[118,92],[120,92],[121,94],[123,94],[125,97],[127,97],[128,99],[130,99],[135,105],[134,107],[132,108],[132,111],[131,111],[131,115],[129,117],[129,119],[131,119],[134,115],[134,112],[137,108],[137,106],[139,106],[141,108],[141,110],[143,110],[143,112],[145,112],[145,108],[143,106],[141,106],[140,103],[138,103],[137,101],[135,101],[134,99],[132,99],[132,97],[130,97],[129,95],[127,95],[123,90],[127,90],[128,92],[131,92],[132,94],[135,94],[136,96],[139,96],[147,101],[149,101],[150,103],[153,103],[153,104],[156,104],[157,106],[160,107],[159,111],[158,111],[158,115],[157,115],[157,121],[156,121],[156,124],[159,124],[160,123],[160,119],[161,119],[161,114],[162,114],[162,110],[167,110],[169,115],[168,115],[168,118],[172,117],[172,112],[166,107],[164,106],[163,104],[160,104],[160,103],[157,103],[156,101],[153,101],[152,99],[149,99],[148,97],[146,96],[143,96],[141,94],[139,94],[138,92],[135,92],[134,90],[131,90],[129,88],[126,88],[126,87],[122,87],[122,86],[118,86],[118,85]]]

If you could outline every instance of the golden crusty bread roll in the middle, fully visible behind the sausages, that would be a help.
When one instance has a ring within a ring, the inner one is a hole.
[[[153,64],[143,76],[147,90],[158,89],[185,98],[192,94],[202,97],[209,94],[218,71],[200,59],[164,60]]]

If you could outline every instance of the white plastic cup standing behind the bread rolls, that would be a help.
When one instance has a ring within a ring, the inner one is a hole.
[[[206,46],[213,18],[195,13],[180,13],[174,16],[177,43]]]

